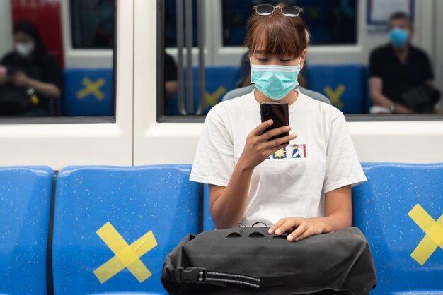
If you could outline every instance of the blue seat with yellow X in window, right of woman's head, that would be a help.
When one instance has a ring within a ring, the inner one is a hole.
[[[326,95],[345,114],[364,112],[364,67],[361,65],[309,65],[308,88]]]

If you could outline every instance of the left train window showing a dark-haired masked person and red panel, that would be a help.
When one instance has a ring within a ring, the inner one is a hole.
[[[8,32],[0,30],[0,40],[9,44],[0,46],[2,121],[28,122],[28,117],[115,121],[115,4],[115,0],[11,1],[11,9],[0,11],[1,18],[11,13]],[[62,11],[69,13],[70,23],[64,22]],[[106,50],[84,50],[72,57],[75,49]]]

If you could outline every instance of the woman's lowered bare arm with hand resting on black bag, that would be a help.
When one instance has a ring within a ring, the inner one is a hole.
[[[352,224],[351,186],[343,186],[325,193],[325,217],[280,219],[269,229],[269,234],[289,231],[287,241],[299,241],[308,236],[345,229]]]

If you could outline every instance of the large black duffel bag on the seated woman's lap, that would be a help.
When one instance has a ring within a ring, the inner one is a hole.
[[[288,242],[266,227],[188,235],[166,256],[169,294],[369,294],[376,274],[356,227]]]

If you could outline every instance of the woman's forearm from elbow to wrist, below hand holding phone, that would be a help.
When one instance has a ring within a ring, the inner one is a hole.
[[[228,186],[214,201],[211,217],[217,229],[226,229],[243,220],[248,199],[253,169],[239,161],[232,173]]]

